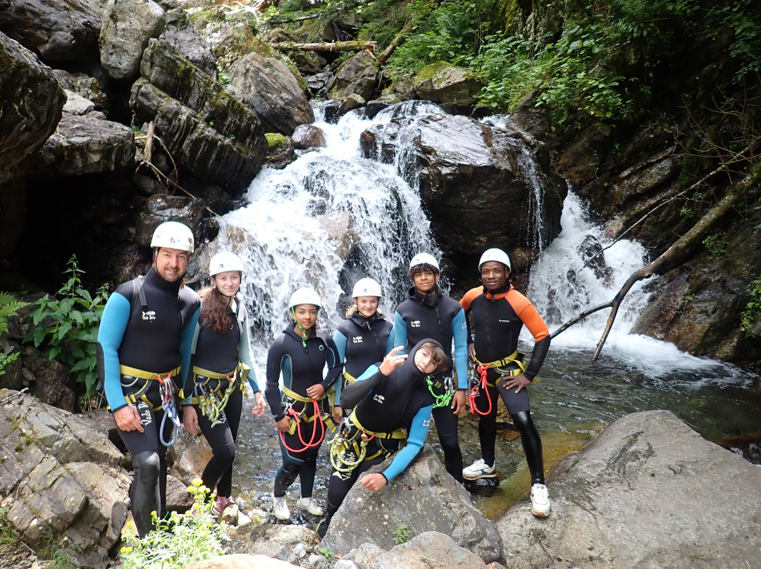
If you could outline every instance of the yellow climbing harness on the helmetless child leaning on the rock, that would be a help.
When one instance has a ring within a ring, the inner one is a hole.
[[[351,415],[343,418],[336,436],[328,441],[330,464],[337,472],[352,472],[365,460],[374,459],[381,453],[387,453],[388,456],[393,452],[384,448],[383,439],[406,440],[406,438],[407,434],[403,429],[390,433],[368,431],[362,427],[359,419],[352,412]],[[372,456],[367,456],[368,443],[371,440],[376,440],[378,449]]]

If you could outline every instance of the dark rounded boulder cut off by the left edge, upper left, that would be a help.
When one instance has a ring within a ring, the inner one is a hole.
[[[0,100],[11,102],[0,114],[0,184],[4,184],[22,173],[24,161],[53,134],[66,100],[50,68],[4,33],[0,33]]]

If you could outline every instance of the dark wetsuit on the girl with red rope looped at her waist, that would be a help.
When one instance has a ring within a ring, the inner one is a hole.
[[[323,367],[328,366],[323,378]],[[311,497],[314,487],[314,474],[317,469],[317,453],[325,436],[326,426],[315,414],[315,405],[302,402],[288,396],[290,390],[302,399],[308,399],[307,388],[318,383],[325,392],[336,383],[341,374],[341,361],[333,339],[326,332],[310,333],[306,346],[302,344],[301,335],[289,324],[279,335],[267,353],[267,386],[265,396],[269,410],[275,421],[285,417],[286,408],[291,406],[294,412],[303,413],[298,424],[291,419],[291,433],[281,433],[280,450],[283,463],[275,475],[275,497],[285,495],[285,490],[293,484],[296,475],[301,480],[301,496]],[[279,388],[282,375],[284,391]],[[318,407],[330,412],[329,399],[324,397]]]

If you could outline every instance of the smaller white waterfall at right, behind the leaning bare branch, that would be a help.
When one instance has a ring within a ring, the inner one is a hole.
[[[584,203],[573,192],[568,192],[563,204],[561,225],[559,236],[533,265],[527,291],[550,332],[583,310],[612,300],[626,279],[648,263],[645,248],[629,240],[613,243],[590,261],[612,240],[589,220]],[[668,342],[629,333],[648,303],[644,286],[645,281],[640,281],[626,295],[602,353],[651,377],[724,367],[717,361],[686,354]],[[552,340],[552,350],[591,353],[603,335],[609,314],[610,309],[600,310],[566,329]],[[523,337],[530,340],[525,329]]]

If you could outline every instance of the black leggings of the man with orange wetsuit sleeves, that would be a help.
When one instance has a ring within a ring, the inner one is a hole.
[[[497,375],[489,370],[487,380],[493,383]],[[495,462],[495,441],[497,440],[497,403],[498,396],[505,402],[510,418],[518,433],[521,434],[521,444],[526,455],[526,462],[531,473],[531,484],[544,484],[544,458],[542,454],[542,439],[537,428],[531,420],[530,404],[527,389],[521,389],[515,393],[515,389],[505,389],[504,383],[499,382],[497,387],[487,386],[492,408],[488,415],[479,416],[478,434],[481,442],[481,458],[486,464]],[[489,399],[484,391],[476,397],[476,407],[486,411],[489,408]]]

